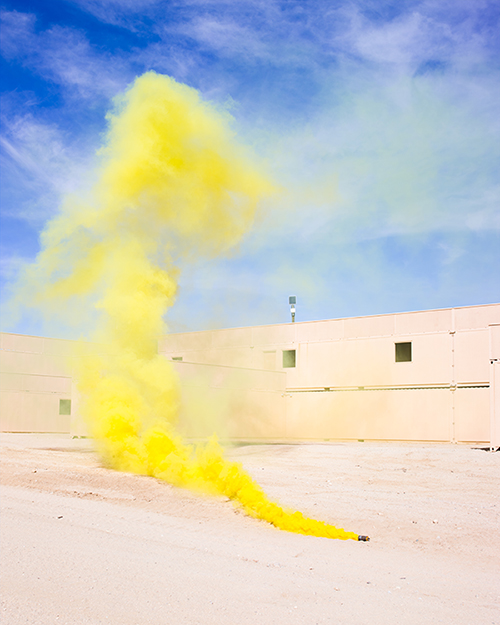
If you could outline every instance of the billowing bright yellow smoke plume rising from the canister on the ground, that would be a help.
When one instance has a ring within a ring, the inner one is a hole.
[[[269,501],[215,438],[193,447],[174,429],[177,382],[156,341],[175,297],[175,259],[233,246],[273,190],[235,143],[227,117],[171,78],[138,78],[109,116],[89,198],[68,198],[43,234],[27,275],[31,296],[95,300],[109,352],[82,357],[78,378],[108,466],[223,494],[280,529],[357,540]]]

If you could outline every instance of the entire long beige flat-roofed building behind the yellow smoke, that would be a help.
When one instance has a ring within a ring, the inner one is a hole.
[[[2,430],[81,428],[70,341],[1,350]],[[500,446],[500,304],[173,334],[159,352],[189,436]]]

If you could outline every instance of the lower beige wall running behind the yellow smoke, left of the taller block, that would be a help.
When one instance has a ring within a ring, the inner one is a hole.
[[[0,334],[0,431],[87,435],[71,371],[75,347],[74,341]],[[172,365],[179,376],[179,429],[185,436],[283,436],[285,373],[187,362]],[[60,414],[60,400],[71,401],[71,414]]]

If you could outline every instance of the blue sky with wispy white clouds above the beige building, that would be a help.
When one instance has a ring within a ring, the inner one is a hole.
[[[283,189],[229,258],[182,267],[172,330],[286,322],[292,294],[299,321],[499,301],[499,18],[486,0],[4,2],[2,297],[85,188],[111,99],[152,69],[229,109]]]

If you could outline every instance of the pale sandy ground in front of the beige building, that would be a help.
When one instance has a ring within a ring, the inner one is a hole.
[[[231,449],[267,492],[371,542],[281,532],[104,469],[88,440],[0,436],[4,625],[500,624],[500,453]]]

